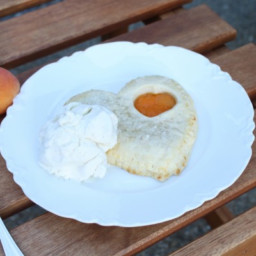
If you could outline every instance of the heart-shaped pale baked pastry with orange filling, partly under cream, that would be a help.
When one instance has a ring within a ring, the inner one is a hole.
[[[70,102],[99,104],[116,114],[118,138],[106,153],[109,164],[163,181],[188,163],[197,133],[196,111],[173,79],[138,77],[117,94],[90,90]]]

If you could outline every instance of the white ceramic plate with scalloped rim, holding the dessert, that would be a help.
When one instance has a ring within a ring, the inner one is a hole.
[[[40,127],[70,97],[92,88],[117,93],[145,75],[175,79],[195,101],[198,137],[179,177],[159,182],[109,166],[104,179],[79,183],[38,166]],[[85,223],[136,227],[176,218],[233,184],[252,155],[253,129],[243,87],[204,56],[115,42],[76,52],[31,76],[1,124],[0,149],[15,182],[48,211]]]

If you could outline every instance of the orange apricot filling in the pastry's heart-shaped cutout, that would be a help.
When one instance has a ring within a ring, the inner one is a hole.
[[[175,98],[168,93],[145,93],[134,101],[134,107],[143,115],[153,117],[172,109]]]

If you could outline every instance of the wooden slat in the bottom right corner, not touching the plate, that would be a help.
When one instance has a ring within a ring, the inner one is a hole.
[[[256,252],[255,216],[256,207],[253,207],[170,256],[254,256]]]

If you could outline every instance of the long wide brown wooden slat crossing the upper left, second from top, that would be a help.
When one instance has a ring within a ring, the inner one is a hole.
[[[0,66],[12,68],[167,12],[190,0],[65,0],[0,22]]]

